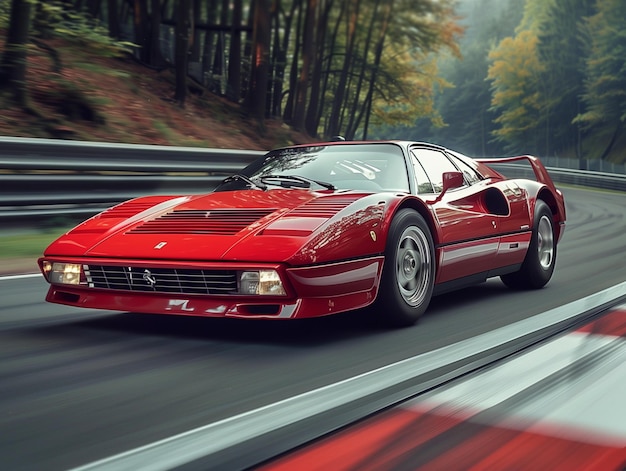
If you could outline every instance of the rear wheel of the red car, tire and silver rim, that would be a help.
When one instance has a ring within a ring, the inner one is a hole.
[[[546,285],[556,263],[554,219],[546,203],[537,200],[533,233],[528,252],[519,271],[502,275],[502,282],[513,289],[539,289]]]

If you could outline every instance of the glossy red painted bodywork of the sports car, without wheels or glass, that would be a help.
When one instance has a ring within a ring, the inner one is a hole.
[[[404,148],[406,159],[414,144],[394,145]],[[185,308],[181,314],[214,315],[215,309],[223,309],[227,315],[246,317],[245,306],[251,303],[280,305],[276,314],[285,308],[289,313],[284,317],[358,309],[371,304],[379,291],[389,227],[403,207],[420,212],[432,229],[435,284],[456,283],[463,278],[472,283],[481,281],[479,278],[495,274],[496,269],[519,266],[524,260],[532,208],[539,193],[549,200],[555,223],[565,219],[562,195],[541,163],[533,157],[519,159],[530,161],[537,182],[509,181],[479,161],[468,159],[468,165],[484,179],[450,189],[434,200],[432,195],[405,192],[280,188],[137,198],[65,234],[46,249],[45,259],[80,264],[99,259],[102,265],[124,267],[135,266],[136,260],[136,265],[145,269],[165,264],[180,269],[209,269],[222,264],[217,268],[229,269],[241,264],[238,269],[246,270],[266,264],[277,267],[282,275],[286,298],[203,295],[199,299],[193,295],[53,286],[47,300],[77,307],[164,314],[176,314],[172,306],[194,304],[194,309]],[[374,258],[378,259],[375,264],[370,262]],[[168,298],[175,299],[172,302]]]

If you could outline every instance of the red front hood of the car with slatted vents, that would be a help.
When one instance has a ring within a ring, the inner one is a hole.
[[[345,259],[363,254],[363,248],[348,250],[346,238],[359,242],[363,224],[379,230],[384,206],[369,193],[299,189],[139,198],[76,227],[46,255],[295,264]],[[382,251],[376,236],[366,242],[367,251]]]

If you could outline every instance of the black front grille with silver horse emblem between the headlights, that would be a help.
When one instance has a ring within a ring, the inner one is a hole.
[[[235,270],[84,265],[90,288],[180,294],[235,294]]]

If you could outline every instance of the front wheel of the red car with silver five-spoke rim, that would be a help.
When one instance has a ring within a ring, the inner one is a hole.
[[[435,283],[435,249],[424,218],[412,209],[394,216],[385,248],[385,264],[373,306],[379,321],[391,327],[417,322],[426,311]]]

